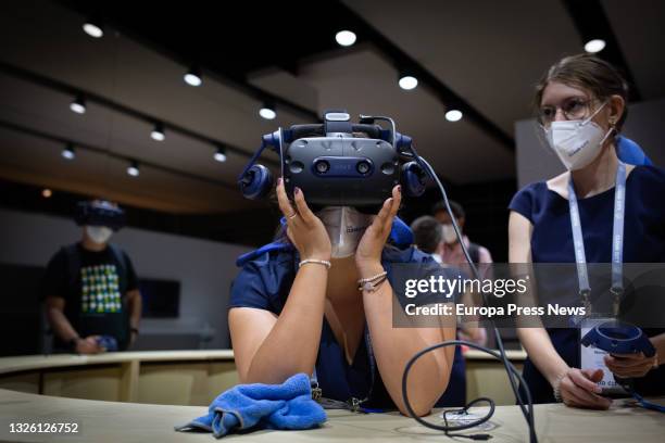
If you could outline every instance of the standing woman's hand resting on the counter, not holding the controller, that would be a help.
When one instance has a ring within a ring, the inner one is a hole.
[[[559,383],[559,393],[567,406],[607,409],[612,401],[599,395],[602,389],[597,384],[602,379],[602,369],[568,368],[555,384]]]

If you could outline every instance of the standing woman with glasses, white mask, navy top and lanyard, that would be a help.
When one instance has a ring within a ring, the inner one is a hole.
[[[555,63],[536,91],[538,121],[567,172],[528,185],[513,198],[511,263],[665,262],[665,172],[617,157],[617,136],[627,116],[626,81],[608,63],[581,54]],[[617,216],[624,229],[617,228]],[[603,278],[608,284],[607,274]],[[572,278],[568,292],[585,295],[589,286],[584,280]],[[644,332],[655,356],[607,355],[604,364],[614,376],[632,378],[640,394],[664,394],[665,330]],[[598,384],[603,369],[580,369],[579,329],[522,328],[518,336],[528,353],[524,378],[535,403],[610,407]]]

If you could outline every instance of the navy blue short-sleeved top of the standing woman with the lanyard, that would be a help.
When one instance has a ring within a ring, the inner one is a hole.
[[[636,166],[626,181],[624,263],[665,262],[664,199],[665,172],[655,166]],[[614,188],[578,199],[578,205],[587,262],[611,263]],[[518,191],[509,207],[524,215],[534,225],[532,263],[575,263],[570,212],[566,199],[548,189],[547,182],[539,181]],[[573,294],[577,295],[577,275],[566,283],[569,287],[568,292],[574,291]],[[569,295],[570,293],[562,293],[562,298]],[[664,331],[644,330],[650,337]],[[579,367],[579,330],[549,329],[548,332],[563,359],[572,367]],[[530,360],[525,365],[524,377],[535,402],[554,401],[551,385]],[[664,394],[664,366],[637,379],[636,390],[644,394]]]

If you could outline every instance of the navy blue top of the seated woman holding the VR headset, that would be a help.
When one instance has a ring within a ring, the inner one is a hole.
[[[253,307],[279,315],[296,278],[299,257],[297,251],[290,244],[276,245],[272,243],[272,245],[267,248],[267,251],[263,249],[265,252],[250,255],[239,263],[242,270],[234,281],[229,308]],[[384,250],[381,262],[393,288],[396,288],[393,264],[421,264],[423,266],[417,267],[418,271],[426,273],[428,276],[440,274],[444,278],[449,278],[452,273],[451,269],[441,268],[428,254],[414,248],[398,250],[388,246]],[[425,276],[415,278],[425,278]],[[454,277],[451,276],[450,278]],[[421,298],[421,295],[418,298],[419,300],[412,299],[418,305],[443,302],[437,296],[431,298],[427,294],[425,298]],[[400,300],[400,302],[403,301]],[[451,302],[451,300],[446,300],[446,302]],[[371,360],[371,353],[368,352],[371,343],[368,342],[369,334],[366,324],[363,336],[365,340],[361,340],[352,364],[349,365],[344,357],[343,347],[337,342],[330,325],[324,317],[316,359],[316,377],[323,395],[342,402],[351,397],[363,400],[369,396],[364,406],[393,409],[396,405],[384,385],[380,374],[376,368],[376,362]],[[462,355],[456,351],[455,364],[461,359]],[[463,362],[462,366],[457,364],[457,371],[460,368],[463,376]],[[452,383],[451,377],[449,391],[453,392],[460,390],[460,388],[459,383]],[[451,395],[448,391],[447,394]],[[446,401],[446,395],[442,396],[442,401]]]

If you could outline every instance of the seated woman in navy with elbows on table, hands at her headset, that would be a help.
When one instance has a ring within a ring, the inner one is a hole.
[[[401,187],[375,216],[348,206],[314,213],[301,189],[289,201],[281,179],[276,191],[292,248],[247,263],[234,283],[229,326],[240,380],[280,383],[314,374],[323,397],[407,414],[406,362],[454,339],[455,328],[393,328],[390,265],[434,263],[413,248],[386,245]],[[441,397],[452,362],[449,347],[414,366],[409,392],[416,414],[428,414]]]

